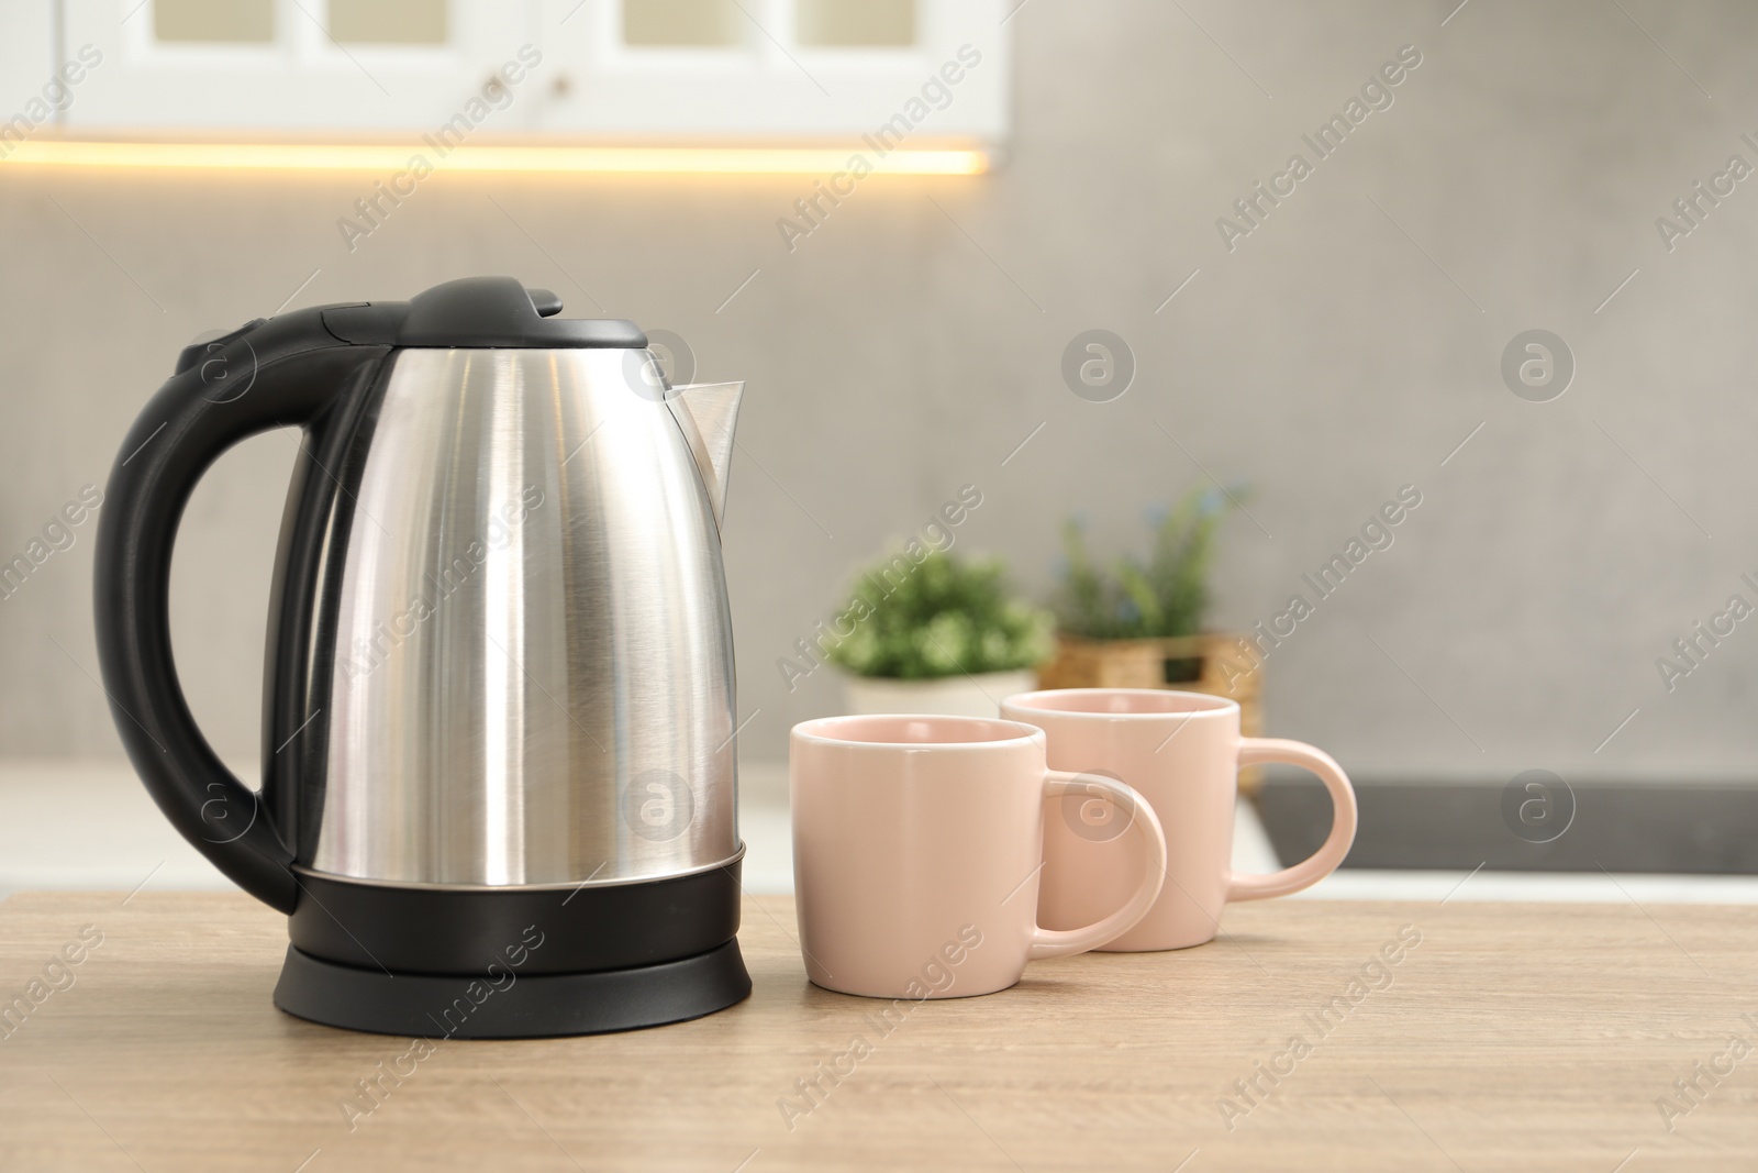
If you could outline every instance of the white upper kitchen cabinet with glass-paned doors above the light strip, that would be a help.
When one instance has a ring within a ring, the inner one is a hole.
[[[86,51],[72,100],[54,111],[54,132],[79,139],[371,142],[450,128],[480,142],[877,135],[890,148],[993,144],[1007,130],[1006,0],[9,0],[0,9],[0,69],[14,93],[49,81],[58,56]]]

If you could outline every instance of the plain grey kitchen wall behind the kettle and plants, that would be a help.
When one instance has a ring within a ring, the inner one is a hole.
[[[294,304],[513,273],[689,338],[701,378],[749,380],[726,533],[747,756],[837,707],[830,670],[789,695],[777,656],[958,485],[984,494],[962,545],[1044,593],[1064,515],[1102,549],[1141,540],[1148,508],[1213,473],[1250,482],[1262,526],[1227,535],[1222,624],[1268,619],[1399,485],[1422,492],[1275,651],[1276,732],[1380,776],[1749,776],[1758,621],[1670,695],[1654,659],[1732,593],[1758,601],[1739,580],[1758,572],[1758,179],[1670,253],[1654,220],[1730,155],[1758,164],[1739,141],[1758,11],[1471,0],[1442,26],[1452,5],[1035,0],[1009,25],[1007,165],[870,179],[791,255],[775,218],[800,178],[441,172],[350,253],[334,222],[362,176],[0,164],[0,552],[104,482],[197,331],[272,311],[313,269]],[[1215,218],[1405,44],[1422,65],[1394,106],[1229,253]],[[1088,327],[1139,362],[1115,403],[1058,375]],[[1579,362],[1552,403],[1500,376],[1531,327]],[[223,459],[178,550],[188,693],[243,758],[292,450]],[[114,753],[90,550],[88,524],[0,603],[0,754]]]

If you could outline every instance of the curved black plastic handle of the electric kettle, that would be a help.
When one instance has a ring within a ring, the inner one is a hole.
[[[116,454],[97,535],[98,661],[111,716],[172,827],[258,900],[292,913],[294,853],[267,804],[195,726],[171,654],[171,552],[202,473],[271,427],[311,427],[387,346],[301,311],[185,350]]]

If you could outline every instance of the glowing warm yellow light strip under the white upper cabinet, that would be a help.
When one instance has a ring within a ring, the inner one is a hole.
[[[847,171],[863,155],[879,174],[979,176],[988,155],[974,149],[744,148],[744,146],[471,146],[443,158],[432,149],[378,144],[297,142],[81,142],[70,139],[7,144],[0,165],[146,167],[197,171],[381,171],[396,172],[424,155],[434,171],[550,171],[624,174],[810,174]]]

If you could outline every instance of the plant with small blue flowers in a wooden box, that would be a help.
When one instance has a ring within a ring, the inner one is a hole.
[[[1178,688],[1239,702],[1246,735],[1262,728],[1262,672],[1241,637],[1204,630],[1215,540],[1234,506],[1217,489],[1187,492],[1159,522],[1146,559],[1093,563],[1078,521],[1064,526],[1057,659],[1042,688]],[[1246,670],[1248,668],[1248,670]]]

